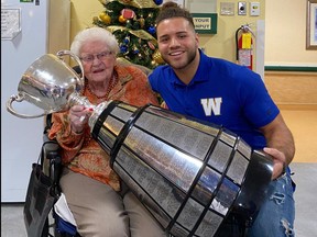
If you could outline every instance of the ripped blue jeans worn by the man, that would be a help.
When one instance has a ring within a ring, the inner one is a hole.
[[[270,184],[269,199],[263,203],[248,237],[294,237],[295,184],[291,170]]]

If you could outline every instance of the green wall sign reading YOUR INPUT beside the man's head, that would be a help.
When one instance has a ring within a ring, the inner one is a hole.
[[[199,34],[217,34],[217,13],[192,13]]]

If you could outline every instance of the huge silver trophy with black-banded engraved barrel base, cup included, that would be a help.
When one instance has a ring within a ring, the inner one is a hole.
[[[266,154],[252,150],[225,127],[151,104],[136,108],[109,101],[94,106],[80,95],[83,78],[57,63],[57,57],[44,59],[44,65],[35,61],[23,75],[19,95],[10,98],[8,111],[35,117],[13,111],[11,103],[23,100],[43,109],[43,114],[72,104],[92,106],[88,122],[92,137],[110,155],[112,169],[167,233],[212,237],[228,216],[241,222],[256,217],[273,171]],[[24,81],[28,86],[22,86]]]

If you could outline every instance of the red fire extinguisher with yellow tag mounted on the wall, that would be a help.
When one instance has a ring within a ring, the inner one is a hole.
[[[237,64],[253,69],[253,32],[248,24],[236,31]]]

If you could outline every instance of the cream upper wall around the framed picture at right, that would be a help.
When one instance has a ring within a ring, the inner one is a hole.
[[[265,66],[317,67],[317,50],[306,49],[307,0],[266,0]]]

